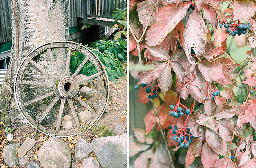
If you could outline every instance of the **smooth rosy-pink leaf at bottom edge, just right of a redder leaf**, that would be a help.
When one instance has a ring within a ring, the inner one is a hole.
[[[204,168],[210,168],[219,159],[219,156],[207,144],[202,147],[201,160]]]

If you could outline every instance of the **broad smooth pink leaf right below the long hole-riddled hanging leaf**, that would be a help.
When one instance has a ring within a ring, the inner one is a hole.
[[[205,80],[208,82],[217,81],[220,78],[224,78],[224,72],[222,66],[215,62],[201,61],[198,68]]]

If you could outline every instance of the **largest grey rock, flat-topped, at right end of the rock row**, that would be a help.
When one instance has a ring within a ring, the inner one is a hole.
[[[92,140],[93,151],[103,168],[127,167],[126,136],[126,134],[123,134],[121,136],[107,136]]]

